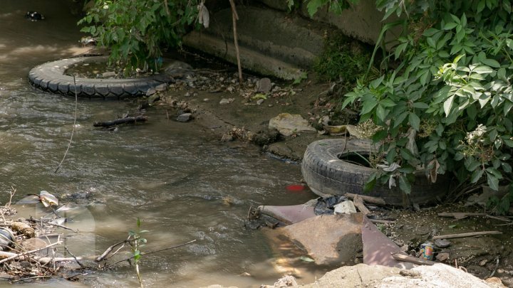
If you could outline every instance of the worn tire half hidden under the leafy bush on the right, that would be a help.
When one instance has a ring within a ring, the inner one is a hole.
[[[431,183],[424,171],[418,171],[412,191],[406,195],[398,187],[376,185],[373,191],[363,193],[363,186],[373,169],[341,160],[341,156],[351,152],[367,154],[373,147],[365,140],[324,139],[311,143],[305,151],[301,164],[304,181],[319,196],[343,195],[345,193],[380,197],[388,205],[409,206],[435,203],[448,191],[448,181],[443,175]]]

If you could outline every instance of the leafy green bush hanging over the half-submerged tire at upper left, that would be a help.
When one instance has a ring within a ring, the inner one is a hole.
[[[110,63],[157,70],[162,46],[176,47],[197,18],[197,0],[95,0],[78,21],[110,48]]]

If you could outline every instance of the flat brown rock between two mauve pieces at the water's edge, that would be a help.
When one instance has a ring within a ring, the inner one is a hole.
[[[317,265],[341,265],[353,262],[362,250],[362,223],[362,213],[318,215],[279,229],[304,247]]]

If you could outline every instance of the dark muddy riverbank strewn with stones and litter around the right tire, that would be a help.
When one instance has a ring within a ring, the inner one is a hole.
[[[203,70],[203,75],[188,75],[183,82],[178,81],[170,86],[170,90],[160,94],[160,101],[153,105],[156,109],[165,109],[170,119],[191,113],[190,121],[197,124],[197,129],[212,134],[227,145],[257,144],[261,146],[261,153],[296,163],[300,163],[309,143],[336,137],[320,132],[323,121],[325,124],[354,121],[351,112],[341,119],[339,103],[331,93],[332,86],[316,82],[314,75],[298,85],[271,80],[269,91],[261,92],[259,82],[262,77],[244,75],[244,85],[239,87],[235,72],[234,68],[227,66],[215,73]],[[209,86],[210,80],[214,82],[212,86]],[[318,128],[318,132],[276,136],[269,131],[269,121],[281,113],[301,115]],[[479,193],[481,189],[475,191],[475,194]],[[435,235],[500,231],[502,235],[450,240],[447,247],[435,250],[435,255],[439,255],[435,261],[462,267],[481,279],[499,277],[504,284],[512,286],[511,221],[509,218],[494,218],[482,203],[467,202],[469,196],[467,194],[451,202],[442,199],[437,206],[421,207],[420,210],[378,208],[373,213],[393,221],[378,225],[378,228],[410,255],[417,255],[420,245]],[[455,219],[441,217],[440,213],[484,214]]]

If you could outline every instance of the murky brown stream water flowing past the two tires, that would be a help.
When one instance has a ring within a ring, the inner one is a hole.
[[[98,255],[127,237],[136,218],[149,230],[144,250],[196,240],[192,245],[142,257],[147,287],[209,284],[258,287],[281,277],[275,253],[259,230],[243,228],[249,206],[304,203],[291,193],[298,165],[270,159],[251,146],[222,144],[194,123],[167,119],[163,108],[147,110],[147,124],[96,129],[93,122],[133,110],[128,102],[75,100],[33,89],[33,66],[83,52],[73,1],[1,1],[0,11],[0,202],[46,190],[86,212],[69,225],[76,255]],[[78,1],[81,2],[81,1]],[[26,11],[44,21],[31,22]],[[33,210],[34,217],[40,211]],[[84,215],[88,215],[85,217]],[[73,252],[73,251],[72,251]],[[133,267],[95,272],[85,282],[60,279],[41,287],[137,287]]]

